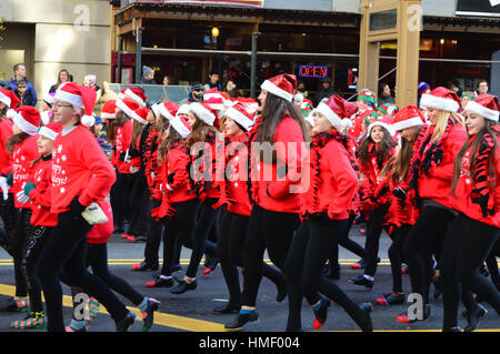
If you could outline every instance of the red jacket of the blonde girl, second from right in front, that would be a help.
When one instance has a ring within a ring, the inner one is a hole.
[[[426,132],[426,138],[432,134],[434,131],[434,125],[429,127]],[[418,192],[419,196],[422,199],[431,199],[441,205],[451,208],[449,194],[451,191],[451,176],[453,174],[454,159],[459,153],[460,149],[463,146],[467,140],[467,132],[462,124],[456,123],[451,127],[447,139],[442,143],[442,159],[437,165],[432,162],[429,169],[429,175],[426,173],[420,173],[418,180]],[[432,141],[426,146],[426,151]],[[420,148],[420,146],[419,146]]]

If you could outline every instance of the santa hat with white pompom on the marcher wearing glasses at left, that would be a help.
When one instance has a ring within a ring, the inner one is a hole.
[[[92,88],[81,87],[74,82],[64,82],[56,91],[54,100],[61,100],[71,103],[73,107],[83,109],[84,114],[80,121],[86,127],[91,127],[96,122],[92,115],[96,104],[97,93]]]

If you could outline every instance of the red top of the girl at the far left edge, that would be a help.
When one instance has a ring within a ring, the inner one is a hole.
[[[26,182],[28,182],[30,175],[34,172],[31,162],[40,155],[38,153],[37,140],[38,134],[34,134],[17,144],[12,152],[12,165],[2,171],[2,174],[4,175],[9,174],[9,172],[12,172],[13,174],[13,184],[10,188],[9,193],[12,193],[14,196],[24,188]],[[17,209],[30,209],[31,202],[19,203],[18,199],[14,198],[14,205]]]

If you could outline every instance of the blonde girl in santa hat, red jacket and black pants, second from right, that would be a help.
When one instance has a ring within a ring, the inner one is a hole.
[[[427,108],[430,125],[421,131],[410,162],[408,196],[421,209],[403,245],[403,255],[410,271],[411,291],[420,294],[423,315],[409,318],[408,313],[397,317],[410,323],[430,316],[429,286],[433,275],[432,249],[442,244],[448,226],[454,219],[448,194],[451,190],[454,159],[466,142],[462,118],[457,114],[460,99],[446,88],[436,88],[422,94],[420,105]],[[434,256],[439,262],[440,252]]]

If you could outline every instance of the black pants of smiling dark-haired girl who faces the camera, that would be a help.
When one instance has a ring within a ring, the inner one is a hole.
[[[364,244],[364,251],[367,257],[367,266],[364,274],[373,276],[377,273],[377,257],[379,255],[379,242],[380,235],[383,231],[383,218],[389,210],[389,204],[382,204],[369,213],[367,222],[367,242]]]

